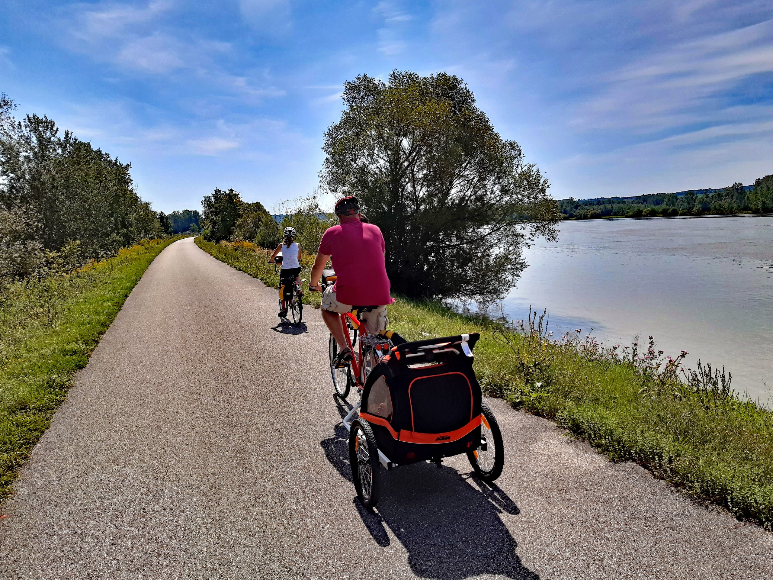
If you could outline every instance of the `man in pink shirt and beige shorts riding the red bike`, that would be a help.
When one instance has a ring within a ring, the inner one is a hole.
[[[394,299],[389,293],[390,281],[384,265],[386,245],[381,230],[373,223],[362,222],[355,196],[338,200],[335,215],[341,225],[328,228],[322,236],[308,289],[319,292],[322,269],[332,258],[337,279],[322,295],[322,319],[339,344],[339,361],[346,363],[353,355],[346,346],[339,313],[349,312],[352,306],[377,306],[371,312],[363,312],[368,333],[376,334],[386,329],[386,305]]]

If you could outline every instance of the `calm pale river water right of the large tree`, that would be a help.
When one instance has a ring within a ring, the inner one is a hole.
[[[687,366],[724,365],[732,386],[773,401],[773,217],[562,222],[557,242],[525,253],[529,268],[504,301],[523,319],[547,309],[550,329],[591,328],[630,344],[652,335]]]

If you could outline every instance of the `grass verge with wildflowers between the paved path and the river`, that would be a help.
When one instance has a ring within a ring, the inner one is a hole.
[[[270,252],[196,243],[277,285],[265,263]],[[306,278],[312,260],[305,259]],[[551,339],[536,319],[514,332],[437,302],[398,299],[389,316],[390,329],[410,340],[480,333],[475,372],[490,396],[556,421],[614,461],[638,462],[696,500],[773,528],[773,412],[742,401],[716,371],[680,375],[679,357],[654,349],[621,353],[592,337]]]

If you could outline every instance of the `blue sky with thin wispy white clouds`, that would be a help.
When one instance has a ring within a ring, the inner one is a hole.
[[[558,199],[773,173],[773,2],[0,0],[19,114],[131,161],[156,210],[318,184],[342,83],[463,78]]]

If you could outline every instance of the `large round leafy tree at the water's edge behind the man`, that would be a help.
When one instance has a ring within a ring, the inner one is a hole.
[[[394,292],[499,299],[526,267],[523,248],[557,237],[547,179],[458,77],[363,75],[343,101],[325,132],[322,185],[358,196],[381,227]]]

